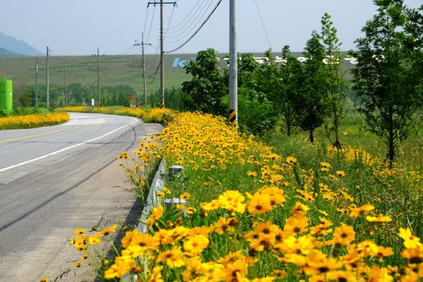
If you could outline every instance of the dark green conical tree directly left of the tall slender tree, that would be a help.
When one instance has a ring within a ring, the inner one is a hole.
[[[293,73],[298,92],[293,97],[295,120],[309,132],[310,142],[314,142],[314,130],[324,123],[327,112],[329,80],[324,64],[324,47],[319,34],[314,30],[307,41],[304,55],[307,58],[302,68]]]

